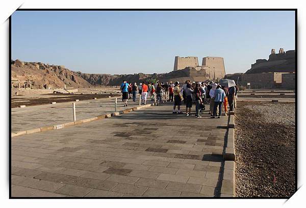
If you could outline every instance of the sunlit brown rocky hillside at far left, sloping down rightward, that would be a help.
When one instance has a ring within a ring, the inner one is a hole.
[[[32,80],[33,89],[90,87],[92,86],[74,71],[65,66],[48,65],[41,62],[11,62],[12,79],[19,81]]]

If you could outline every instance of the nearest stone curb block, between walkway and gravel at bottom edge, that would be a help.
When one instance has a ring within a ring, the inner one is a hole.
[[[235,166],[234,161],[224,162],[220,197],[236,197]]]

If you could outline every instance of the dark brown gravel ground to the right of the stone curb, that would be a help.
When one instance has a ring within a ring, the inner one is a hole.
[[[295,103],[239,102],[236,113],[236,195],[292,196]]]

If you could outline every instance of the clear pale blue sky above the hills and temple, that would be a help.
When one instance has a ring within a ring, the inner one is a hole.
[[[294,49],[293,11],[16,11],[12,59],[84,73],[164,73],[175,56],[224,58],[245,72]]]

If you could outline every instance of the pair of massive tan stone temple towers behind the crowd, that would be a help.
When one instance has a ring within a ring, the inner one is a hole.
[[[176,56],[174,59],[173,71],[183,70],[186,67],[192,67],[196,71],[202,71],[201,76],[208,76],[208,80],[220,80],[223,79],[225,75],[224,61],[222,57],[204,57],[202,59],[202,65],[200,66],[197,57]]]

